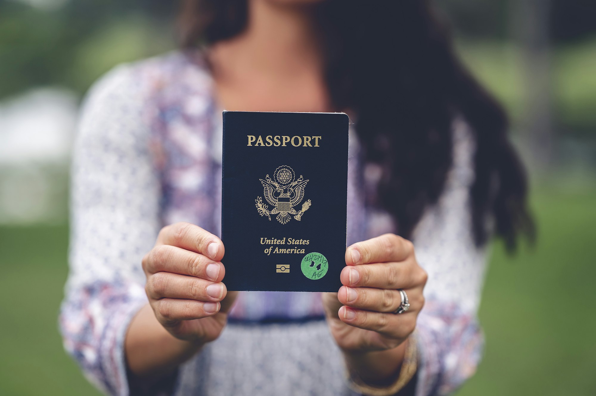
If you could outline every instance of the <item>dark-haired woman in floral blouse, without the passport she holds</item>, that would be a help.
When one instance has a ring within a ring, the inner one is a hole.
[[[480,359],[486,243],[532,228],[505,117],[429,4],[188,0],[181,16],[183,51],[86,100],[67,350],[118,395],[456,389]],[[355,121],[338,293],[226,291],[224,108]]]

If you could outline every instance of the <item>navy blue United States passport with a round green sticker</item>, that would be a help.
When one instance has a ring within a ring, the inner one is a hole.
[[[228,290],[339,290],[347,115],[224,111],[223,117]]]

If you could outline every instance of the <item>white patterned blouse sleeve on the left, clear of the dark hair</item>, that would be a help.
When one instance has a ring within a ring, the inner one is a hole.
[[[64,347],[88,379],[127,395],[123,341],[147,303],[142,256],[159,231],[160,183],[150,155],[144,89],[131,66],[86,99],[72,165],[70,272],[61,305]]]

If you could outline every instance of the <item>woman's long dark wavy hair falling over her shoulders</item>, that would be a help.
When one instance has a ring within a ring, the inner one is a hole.
[[[241,33],[248,1],[184,0],[182,45]],[[491,223],[509,250],[520,232],[533,237],[526,175],[507,139],[507,117],[461,64],[430,2],[327,0],[312,7],[331,100],[357,115],[366,159],[383,169],[378,205],[394,216],[399,234],[411,237],[439,199],[452,165],[453,122],[461,117],[476,141],[470,210],[477,246],[488,241]]]

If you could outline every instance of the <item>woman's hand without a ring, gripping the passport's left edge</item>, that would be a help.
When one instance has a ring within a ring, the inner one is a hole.
[[[159,232],[143,257],[145,291],[161,325],[179,340],[203,344],[219,337],[237,292],[227,293],[224,243],[197,225],[176,223]]]

